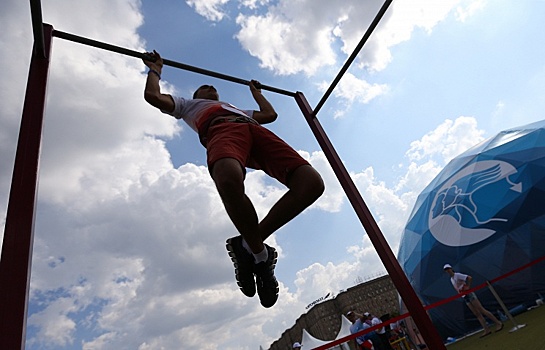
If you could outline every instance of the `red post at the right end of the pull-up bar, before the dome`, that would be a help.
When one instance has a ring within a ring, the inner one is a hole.
[[[314,136],[318,140],[318,143],[322,147],[322,150],[324,151],[324,154],[327,157],[329,164],[331,164],[333,171],[337,175],[337,178],[339,179],[339,182],[341,183],[341,186],[343,187],[348,197],[348,200],[352,204],[352,207],[356,211],[356,215],[358,215],[358,218],[363,224],[363,227],[367,232],[369,239],[373,243],[373,246],[375,247],[375,250],[377,251],[380,259],[382,260],[384,267],[388,271],[392,282],[396,286],[399,295],[407,305],[407,308],[414,321],[416,322],[420,334],[426,342],[426,345],[429,349],[433,350],[446,349],[441,339],[441,336],[435,329],[433,323],[428,317],[428,314],[424,310],[424,307],[422,306],[420,299],[418,299],[418,296],[416,295],[414,289],[409,283],[407,276],[405,276],[405,273],[403,273],[401,266],[399,266],[399,263],[397,262],[394,253],[390,249],[390,246],[388,245],[388,242],[386,242],[386,239],[380,231],[380,228],[378,227],[375,219],[373,218],[373,215],[369,211],[369,208],[367,208],[367,205],[363,201],[363,198],[361,197],[358,189],[356,188],[356,185],[352,181],[352,178],[348,174],[348,171],[342,163],[339,155],[335,151],[333,144],[327,137],[318,119],[313,116],[312,108],[310,108],[310,105],[308,104],[303,93],[297,92],[295,94],[295,100],[297,101],[299,108],[303,112],[305,119],[307,120],[312,132],[314,133]]]

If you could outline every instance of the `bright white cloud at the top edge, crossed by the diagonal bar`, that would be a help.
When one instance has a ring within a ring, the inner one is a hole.
[[[334,52],[339,42],[345,55],[352,53],[381,5],[381,1],[281,0],[265,14],[240,13],[237,39],[265,68],[278,74],[313,75],[324,66],[338,65],[339,57],[344,61]],[[390,48],[409,40],[415,29],[431,32],[455,8],[462,20],[482,7],[461,0],[396,1],[360,53],[359,66],[382,70],[392,59]]]

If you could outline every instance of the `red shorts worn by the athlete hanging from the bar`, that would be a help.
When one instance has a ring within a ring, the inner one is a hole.
[[[291,173],[308,165],[299,153],[267,128],[252,123],[224,122],[207,134],[208,169],[222,158],[234,158],[243,168],[263,170],[287,186]]]

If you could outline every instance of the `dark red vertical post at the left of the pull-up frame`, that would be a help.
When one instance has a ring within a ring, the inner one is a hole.
[[[0,260],[0,349],[24,349],[34,210],[53,27],[32,52]]]

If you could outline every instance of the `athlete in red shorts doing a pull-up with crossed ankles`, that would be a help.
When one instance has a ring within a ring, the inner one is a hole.
[[[273,306],[279,291],[274,276],[278,254],[264,240],[322,195],[322,178],[293,148],[261,126],[276,120],[277,113],[261,94],[259,82],[249,84],[259,110],[239,109],[220,101],[212,85],[199,87],[192,99],[171,96],[160,90],[163,60],[159,53],[147,52],[144,57],[149,67],[145,100],[163,113],[183,119],[206,147],[208,170],[240,233],[226,244],[240,290],[253,297],[257,285],[261,305]],[[246,168],[263,170],[288,188],[261,221],[244,191]]]

